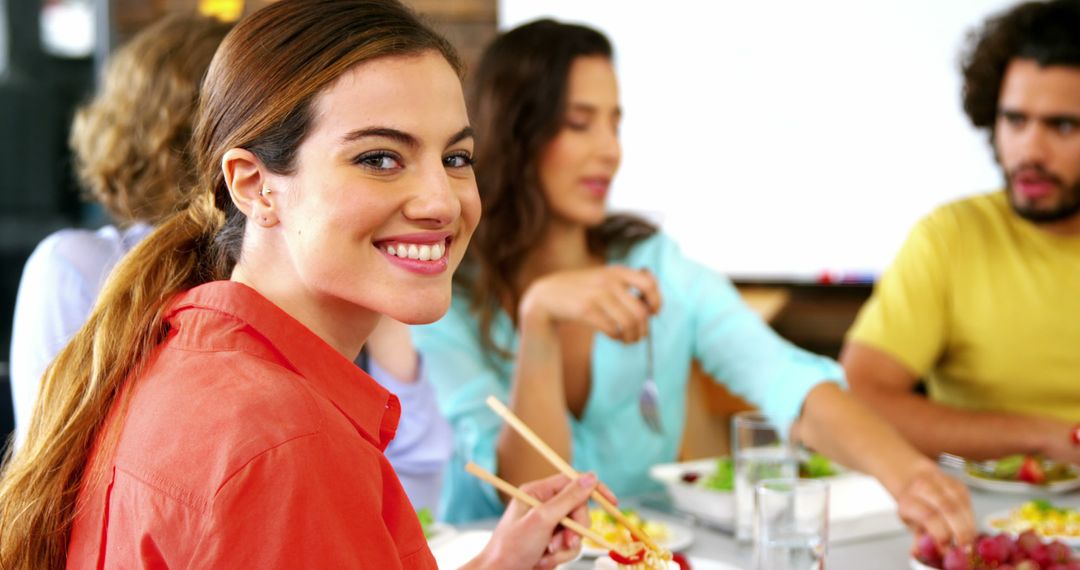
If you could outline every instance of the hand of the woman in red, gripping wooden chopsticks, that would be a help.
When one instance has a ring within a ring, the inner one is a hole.
[[[523,485],[523,491],[543,504],[530,508],[516,499],[511,501],[484,552],[465,568],[550,569],[572,560],[581,551],[581,537],[561,528],[559,521],[570,517],[589,527],[589,494],[596,487],[592,474],[577,480],[553,475]],[[610,496],[606,490],[605,494]]]

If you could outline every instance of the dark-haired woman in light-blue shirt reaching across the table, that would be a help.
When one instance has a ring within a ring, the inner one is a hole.
[[[473,81],[484,215],[449,313],[414,329],[455,430],[444,516],[502,510],[463,471],[469,461],[511,483],[552,470],[487,409],[491,394],[617,493],[653,489],[648,467],[675,459],[698,358],[784,433],[877,476],[913,526],[942,542],[971,538],[963,486],[849,397],[836,363],[781,339],[728,280],[649,223],[606,212],[621,109],[603,35],[552,21],[516,28],[488,48]],[[637,405],[646,335],[662,433]]]

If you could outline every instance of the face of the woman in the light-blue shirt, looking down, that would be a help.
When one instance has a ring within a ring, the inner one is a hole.
[[[622,158],[619,84],[604,56],[578,57],[567,79],[563,126],[540,155],[540,185],[556,218],[594,227]]]

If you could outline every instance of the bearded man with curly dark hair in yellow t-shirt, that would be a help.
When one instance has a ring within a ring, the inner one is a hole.
[[[1080,463],[1080,1],[990,18],[963,76],[1005,188],[916,226],[841,362],[928,454]]]

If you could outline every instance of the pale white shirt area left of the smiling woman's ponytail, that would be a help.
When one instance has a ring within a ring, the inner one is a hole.
[[[82,327],[113,266],[152,228],[59,230],[45,238],[23,269],[11,335],[15,447],[26,438],[45,368]]]

